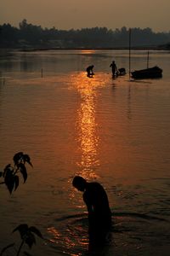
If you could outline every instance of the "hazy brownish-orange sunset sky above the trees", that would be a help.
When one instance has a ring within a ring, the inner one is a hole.
[[[0,24],[28,23],[58,29],[106,26],[170,31],[169,0],[0,0]]]

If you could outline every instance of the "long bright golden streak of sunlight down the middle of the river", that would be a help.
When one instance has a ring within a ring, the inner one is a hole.
[[[99,135],[98,123],[96,120],[96,102],[99,87],[105,85],[98,77],[88,78],[86,73],[80,73],[73,81],[81,96],[80,107],[77,109],[77,143],[81,154],[81,160],[77,162],[80,169],[79,175],[83,177],[97,177],[96,167],[99,166]]]

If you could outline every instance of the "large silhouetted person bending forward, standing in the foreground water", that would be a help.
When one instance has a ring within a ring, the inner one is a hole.
[[[72,184],[83,192],[83,200],[88,208],[89,246],[104,245],[111,230],[111,209],[108,197],[101,184],[88,183],[83,177],[74,177]]]

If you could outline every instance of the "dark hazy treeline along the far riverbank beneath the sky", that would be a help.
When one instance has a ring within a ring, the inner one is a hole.
[[[22,20],[19,27],[3,24],[0,26],[0,48],[24,49],[76,49],[127,48],[129,32],[126,26],[111,30],[93,27],[71,30],[42,28]],[[149,27],[132,28],[133,48],[170,49],[170,32],[153,32]]]

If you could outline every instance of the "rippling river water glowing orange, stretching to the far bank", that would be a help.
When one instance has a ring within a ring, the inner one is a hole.
[[[125,76],[112,79],[112,60]],[[146,60],[133,50],[132,70]],[[20,151],[33,165],[12,195],[0,187],[1,249],[18,247],[11,232],[28,224],[44,237],[23,248],[32,255],[169,255],[169,60],[169,52],[150,51],[149,65],[163,77],[134,81],[127,50],[1,51],[0,168]],[[91,64],[93,79],[85,73]],[[110,201],[111,241],[94,252],[75,175],[102,183]]]

